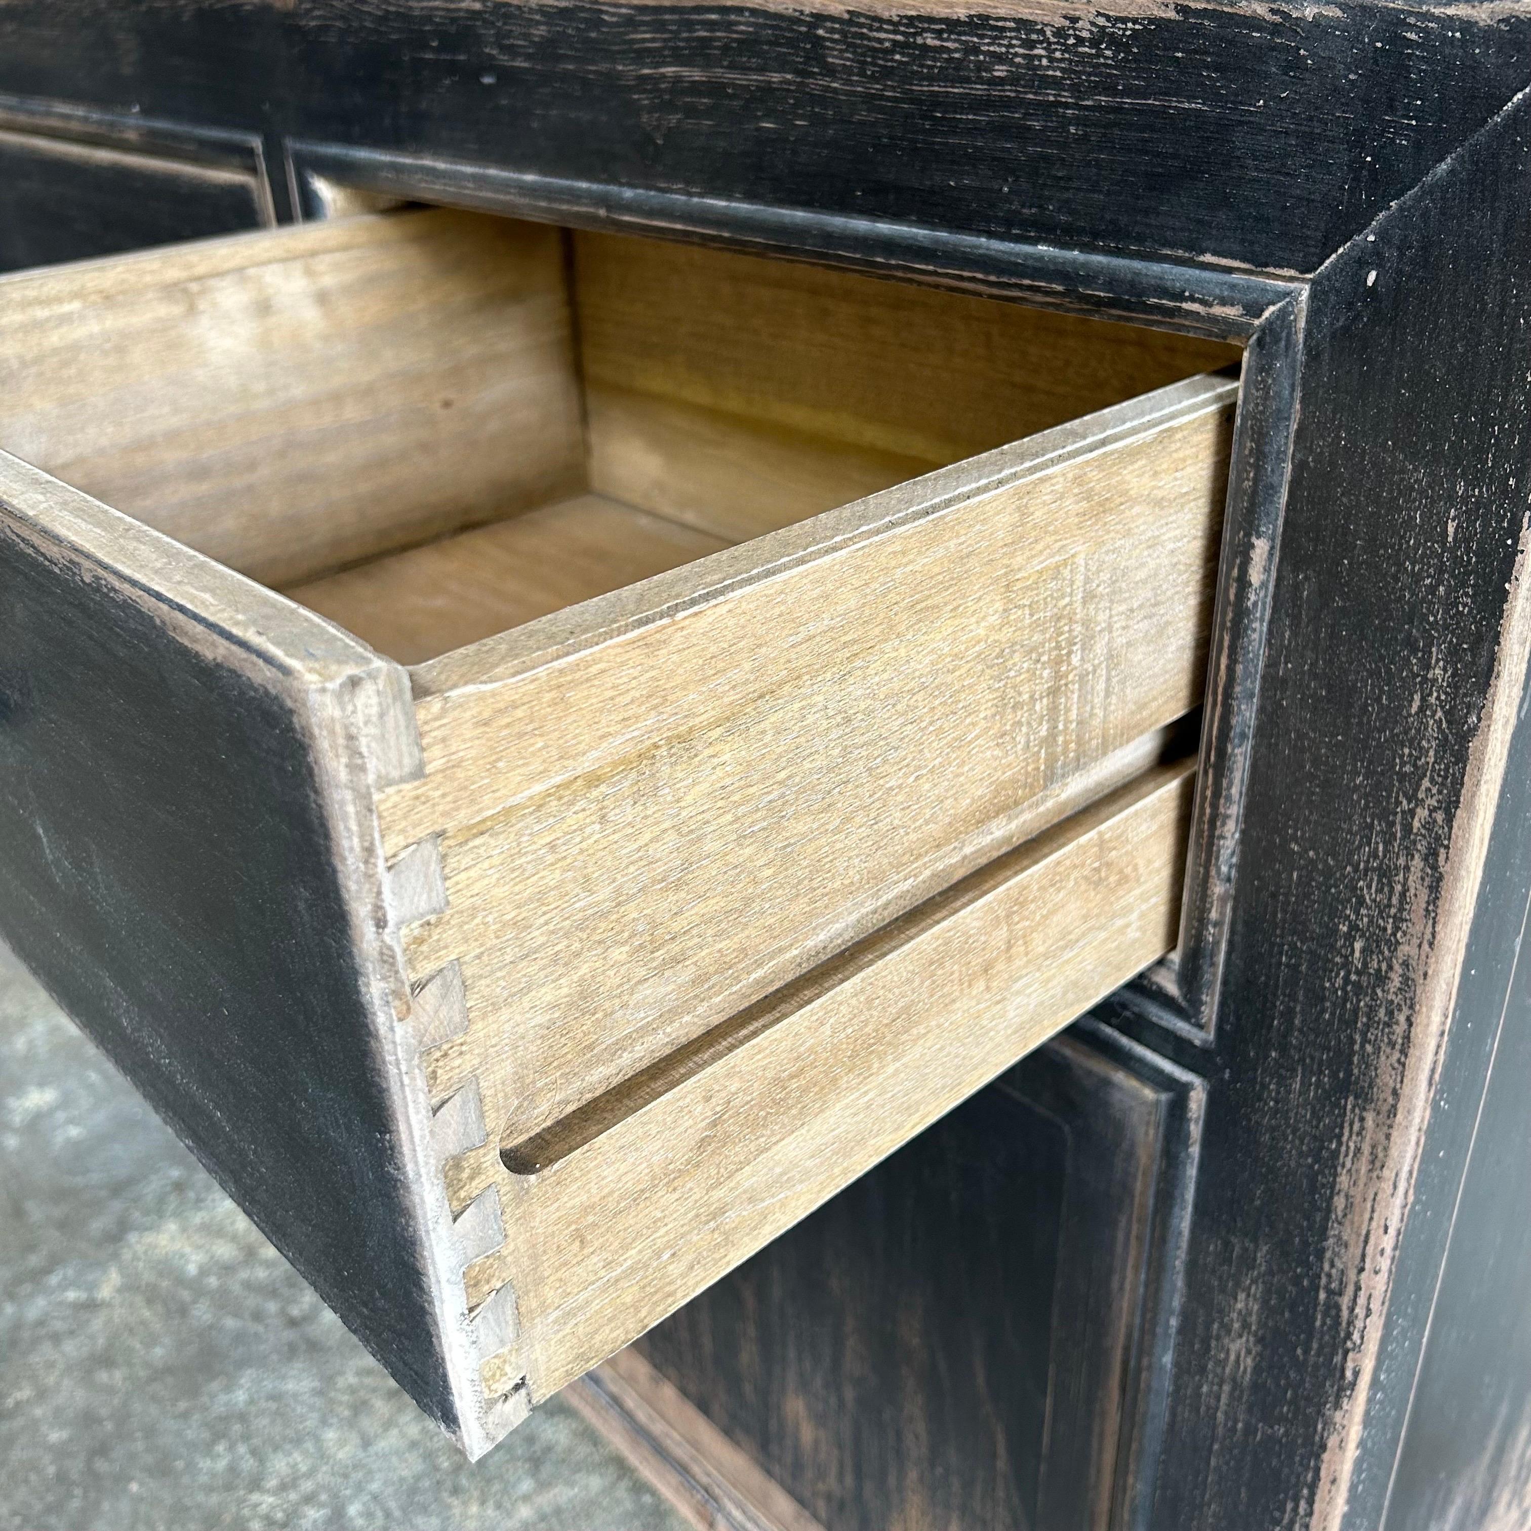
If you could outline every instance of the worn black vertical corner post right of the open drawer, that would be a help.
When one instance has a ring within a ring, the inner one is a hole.
[[[1520,104],[1309,299],[1165,1526],[1297,1526],[1340,1488],[1387,1289],[1363,1145],[1435,1043],[1421,984],[1526,521],[1528,176]]]

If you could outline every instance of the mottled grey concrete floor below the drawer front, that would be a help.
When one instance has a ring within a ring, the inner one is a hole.
[[[0,1528],[680,1525],[557,1399],[468,1467],[0,948]]]

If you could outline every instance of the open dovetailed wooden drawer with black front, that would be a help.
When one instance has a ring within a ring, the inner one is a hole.
[[[1234,357],[447,211],[6,277],[0,934],[476,1454],[1173,946]]]

